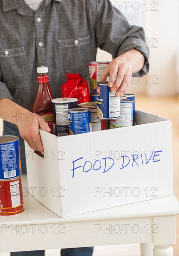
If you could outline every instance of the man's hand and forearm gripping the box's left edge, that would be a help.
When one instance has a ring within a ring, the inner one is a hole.
[[[27,141],[28,145],[44,154],[39,128],[46,132],[50,132],[50,128],[39,115],[5,98],[0,100],[0,117],[17,125],[20,136]]]

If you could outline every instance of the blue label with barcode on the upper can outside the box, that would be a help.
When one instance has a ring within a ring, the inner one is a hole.
[[[0,145],[1,149],[1,160],[2,160],[2,171],[4,177],[1,178],[12,178],[16,176],[16,154],[14,143]]]

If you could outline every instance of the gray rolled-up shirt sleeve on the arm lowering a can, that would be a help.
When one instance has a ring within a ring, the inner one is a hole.
[[[143,76],[149,70],[149,49],[142,27],[131,26],[124,15],[109,0],[96,2],[96,45],[112,54],[113,59],[128,50],[136,49],[145,57],[144,67],[133,76]]]

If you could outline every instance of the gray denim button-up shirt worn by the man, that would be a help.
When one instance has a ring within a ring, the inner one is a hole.
[[[146,58],[144,30],[131,26],[109,0],[45,0],[35,13],[23,0],[0,0],[0,99],[30,109],[37,90],[37,67],[49,70],[55,98],[66,73],[89,81],[88,63],[97,47],[113,55],[137,49]]]

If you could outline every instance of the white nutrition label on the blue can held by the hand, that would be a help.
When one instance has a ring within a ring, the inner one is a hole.
[[[109,117],[119,118],[120,116],[120,97],[115,95],[116,93],[109,93]]]

